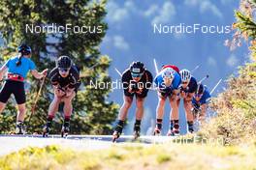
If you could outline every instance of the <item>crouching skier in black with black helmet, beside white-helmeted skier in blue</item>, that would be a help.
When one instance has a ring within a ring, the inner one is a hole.
[[[134,96],[136,97],[136,122],[134,125],[135,139],[140,136],[141,122],[144,116],[144,99],[151,87],[153,77],[150,71],[144,68],[142,62],[133,62],[129,69],[122,73],[123,84],[123,104],[118,115],[118,122],[113,132],[113,141],[122,133],[124,121],[127,117],[128,110],[132,105]]]

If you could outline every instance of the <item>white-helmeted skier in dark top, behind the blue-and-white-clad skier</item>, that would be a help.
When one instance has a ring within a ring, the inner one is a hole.
[[[177,100],[177,105],[179,105],[180,99],[183,99],[184,109],[186,113],[187,126],[189,132],[194,132],[194,117],[191,112],[192,109],[192,99],[197,91],[197,80],[191,75],[191,72],[188,70],[179,71],[181,77],[181,85],[179,87],[180,94],[179,99]]]

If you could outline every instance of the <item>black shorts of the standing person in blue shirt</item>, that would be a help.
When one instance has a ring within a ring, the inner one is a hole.
[[[17,104],[25,103],[26,94],[24,83],[19,81],[6,80],[0,92],[0,101],[6,103],[12,94],[14,94]]]

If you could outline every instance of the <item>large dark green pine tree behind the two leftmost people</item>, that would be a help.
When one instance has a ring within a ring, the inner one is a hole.
[[[32,47],[32,60],[37,69],[53,69],[54,60],[60,55],[70,56],[80,68],[81,90],[74,103],[72,116],[73,133],[110,133],[112,121],[117,113],[117,105],[107,101],[111,87],[105,89],[90,88],[90,80],[98,82],[111,82],[108,74],[111,60],[108,56],[101,56],[99,44],[102,42],[108,29],[104,21],[106,15],[106,0],[90,2],[89,0],[18,0],[0,1],[0,30],[4,38],[4,47],[1,53],[5,60],[16,55],[16,47],[21,42],[26,42]],[[26,26],[87,26],[90,33],[74,33],[69,30],[65,33],[48,34],[47,32],[32,33]],[[98,30],[97,30],[98,29]],[[99,31],[100,30],[100,31]],[[31,84],[27,93],[27,116],[31,114],[35,96],[42,81],[28,76]],[[28,132],[40,132],[46,123],[48,105],[53,98],[52,89],[48,80],[38,101],[35,114],[28,122]],[[10,110],[12,109],[11,113]],[[61,109],[60,109],[61,110]],[[4,115],[14,113],[13,104],[9,104]],[[2,116],[3,117],[3,116]],[[15,116],[13,116],[15,118]],[[6,120],[3,120],[6,121]],[[14,124],[14,120],[3,122],[1,125]],[[59,132],[62,124],[61,114],[54,119],[54,131]],[[0,126],[1,131],[11,130],[11,126]]]

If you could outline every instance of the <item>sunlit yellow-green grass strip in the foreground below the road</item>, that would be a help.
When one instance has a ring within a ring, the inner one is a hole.
[[[0,169],[256,169],[255,162],[255,146],[113,144],[110,149],[94,151],[60,146],[26,148],[0,157]]]

